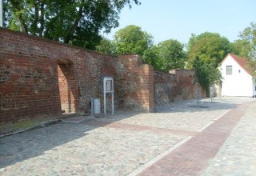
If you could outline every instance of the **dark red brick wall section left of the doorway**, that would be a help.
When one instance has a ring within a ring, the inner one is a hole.
[[[57,64],[47,54],[53,48],[10,30],[0,29],[0,38],[1,133],[33,126],[28,119],[58,118]]]

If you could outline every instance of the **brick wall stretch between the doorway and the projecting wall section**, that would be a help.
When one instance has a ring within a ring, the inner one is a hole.
[[[79,105],[78,110],[82,112],[90,113],[90,99],[100,98],[102,112],[103,112],[103,78],[114,78],[114,106],[118,108],[118,90],[116,90],[116,60],[118,58],[98,54],[93,51],[80,50],[81,59],[76,61],[78,66],[78,73],[76,78],[78,79],[79,87]],[[111,97],[109,94],[106,97],[107,110],[111,109]]]

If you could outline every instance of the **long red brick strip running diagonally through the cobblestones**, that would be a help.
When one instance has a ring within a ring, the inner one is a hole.
[[[246,102],[230,110],[202,130],[202,133],[147,167],[139,175],[197,175],[208,166],[208,160],[217,154],[246,108],[252,103],[254,102]]]

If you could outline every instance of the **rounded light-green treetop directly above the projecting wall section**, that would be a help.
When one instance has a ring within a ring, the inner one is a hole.
[[[114,34],[116,54],[140,54],[153,46],[153,37],[139,26],[126,26]]]

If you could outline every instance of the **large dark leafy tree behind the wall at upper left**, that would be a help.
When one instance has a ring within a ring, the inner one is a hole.
[[[99,33],[118,26],[124,6],[138,0],[3,0],[4,26],[26,34],[94,49]]]

